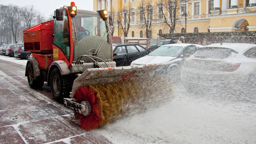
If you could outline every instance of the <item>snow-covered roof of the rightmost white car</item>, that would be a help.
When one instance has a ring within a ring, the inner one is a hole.
[[[233,49],[237,52],[243,52],[244,50],[250,47],[256,47],[256,45],[250,44],[250,43],[213,43],[210,45],[206,45],[204,47],[223,47],[223,48]]]

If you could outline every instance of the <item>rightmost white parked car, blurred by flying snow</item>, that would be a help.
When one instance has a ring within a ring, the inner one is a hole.
[[[256,86],[256,45],[215,43],[200,48],[184,62],[182,83],[194,92]]]

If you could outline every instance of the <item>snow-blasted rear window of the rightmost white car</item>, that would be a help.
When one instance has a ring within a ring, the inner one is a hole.
[[[196,58],[212,58],[212,59],[223,59],[231,56],[232,52],[231,49],[222,49],[222,48],[214,48],[209,47],[205,49],[199,49],[195,54],[194,57]]]

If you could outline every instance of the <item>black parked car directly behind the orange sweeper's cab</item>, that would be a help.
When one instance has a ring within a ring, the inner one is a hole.
[[[139,44],[113,44],[114,61],[119,66],[128,66],[135,59],[147,55],[149,51]]]

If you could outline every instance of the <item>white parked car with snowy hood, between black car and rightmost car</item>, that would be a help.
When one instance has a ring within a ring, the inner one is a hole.
[[[186,58],[193,55],[202,45],[177,43],[163,45],[150,52],[147,56],[136,59],[131,65],[148,65],[158,63],[169,63],[167,67],[157,70],[161,74],[179,74]]]

